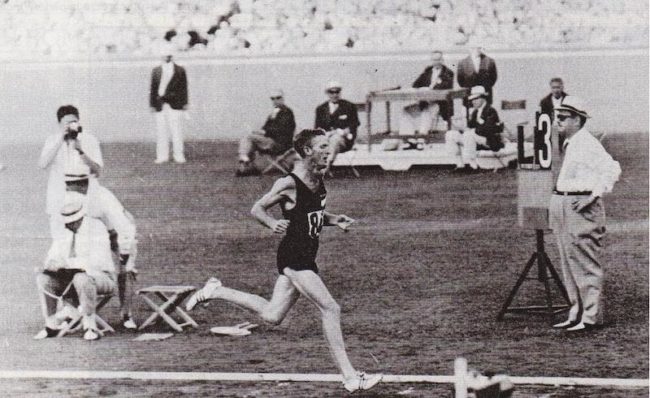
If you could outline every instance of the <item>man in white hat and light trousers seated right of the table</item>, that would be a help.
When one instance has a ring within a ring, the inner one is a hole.
[[[487,95],[483,86],[472,87],[468,97],[472,103],[468,128],[464,131],[450,130],[445,135],[447,150],[456,159],[455,171],[478,170],[476,157],[479,149],[496,152],[504,146],[501,137],[503,125],[496,109],[487,103]]]

